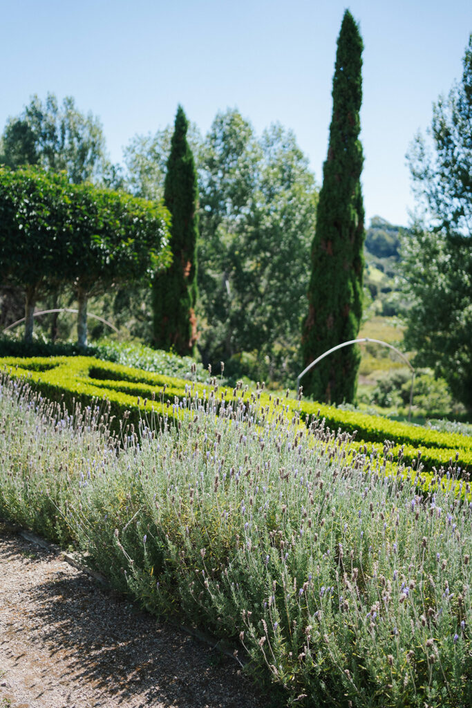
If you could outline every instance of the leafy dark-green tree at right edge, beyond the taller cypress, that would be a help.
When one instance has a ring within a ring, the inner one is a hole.
[[[405,341],[422,365],[472,408],[472,34],[464,73],[434,104],[431,147],[420,135],[409,161],[420,207],[403,239],[400,277],[410,307]]]

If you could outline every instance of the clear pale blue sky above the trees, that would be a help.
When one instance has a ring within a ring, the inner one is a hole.
[[[367,218],[408,223],[405,152],[461,76],[471,0],[0,0],[0,128],[33,93],[74,96],[113,161],[178,103],[206,132],[237,107],[260,132],[294,130],[321,182],[336,40],[346,7],[364,39]]]

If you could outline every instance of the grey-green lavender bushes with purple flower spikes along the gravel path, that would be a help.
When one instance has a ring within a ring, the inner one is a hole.
[[[470,485],[415,474],[258,401],[123,445],[5,379],[0,513],[64,544],[156,615],[238,643],[289,704],[466,708],[472,700]],[[278,419],[278,422],[277,422]],[[189,464],[191,459],[192,464]],[[327,491],[328,490],[328,491]]]

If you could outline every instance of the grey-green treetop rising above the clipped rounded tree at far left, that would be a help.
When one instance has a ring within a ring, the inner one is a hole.
[[[54,93],[45,101],[33,96],[18,118],[8,120],[1,138],[2,162],[13,169],[38,165],[65,171],[75,184],[97,180],[110,170],[98,118],[81,113],[71,96],[59,106]]]

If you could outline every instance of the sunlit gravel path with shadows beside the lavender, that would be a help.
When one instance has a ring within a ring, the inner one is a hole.
[[[237,664],[0,525],[0,708],[263,708]]]

